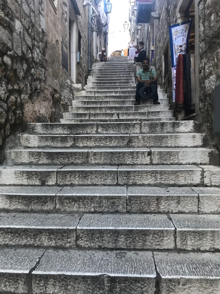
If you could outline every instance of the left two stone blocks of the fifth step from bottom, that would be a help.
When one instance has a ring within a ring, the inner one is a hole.
[[[197,152],[199,153],[199,151]],[[15,164],[114,165],[151,163],[149,148],[13,149],[10,151],[10,157]]]

